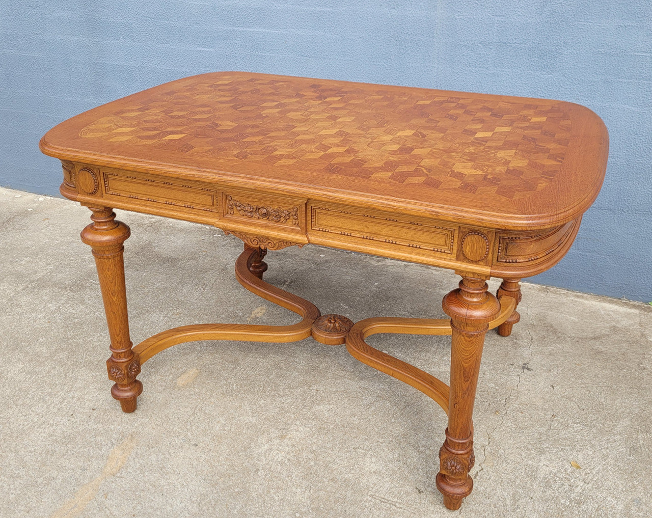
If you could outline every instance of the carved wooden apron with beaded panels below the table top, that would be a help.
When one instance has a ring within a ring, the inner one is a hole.
[[[507,231],[370,209],[297,194],[261,192],[62,161],[61,194],[83,205],[214,225],[252,246],[306,243],[489,277],[547,270],[570,248],[581,216],[547,229]]]

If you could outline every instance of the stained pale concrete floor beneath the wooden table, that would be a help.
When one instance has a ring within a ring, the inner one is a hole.
[[[652,308],[524,284],[512,336],[490,332],[475,403],[475,488],[436,491],[445,414],[344,347],[196,342],[143,367],[138,410],[106,379],[89,212],[0,188],[0,516],[647,517]],[[233,277],[241,242],[119,211],[132,339],[296,315]],[[322,312],[436,317],[452,272],[316,246],[267,256],[266,280]],[[492,289],[495,289],[495,283]],[[448,379],[449,338],[376,347]],[[574,464],[571,464],[574,463]]]

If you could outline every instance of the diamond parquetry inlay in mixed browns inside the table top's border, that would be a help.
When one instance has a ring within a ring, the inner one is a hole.
[[[554,179],[571,134],[557,102],[458,95],[207,74],[158,87],[146,102],[134,97],[80,136],[207,156],[216,165],[237,159],[508,199]]]

